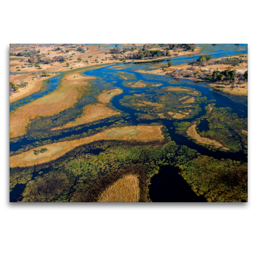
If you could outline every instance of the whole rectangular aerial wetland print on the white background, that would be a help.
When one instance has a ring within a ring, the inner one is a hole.
[[[247,44],[10,44],[10,202],[247,202]]]

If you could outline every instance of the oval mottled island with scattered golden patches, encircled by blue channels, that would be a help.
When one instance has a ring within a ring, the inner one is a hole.
[[[124,96],[120,103],[138,111],[140,119],[182,119],[196,115],[200,92],[190,87],[164,87],[152,90],[153,93],[141,93]]]

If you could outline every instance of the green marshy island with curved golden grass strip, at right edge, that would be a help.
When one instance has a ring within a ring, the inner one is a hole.
[[[206,110],[206,116],[195,122],[174,123],[176,132],[206,148],[247,153],[247,118],[239,118],[231,108],[216,108],[213,104]],[[200,131],[198,124],[204,119],[209,123],[209,130]]]

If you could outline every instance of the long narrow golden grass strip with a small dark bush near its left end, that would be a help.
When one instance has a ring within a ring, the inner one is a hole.
[[[92,136],[85,137],[77,140],[69,140],[63,142],[52,143],[44,145],[48,150],[44,153],[34,154],[35,149],[23,152],[19,155],[10,157],[10,167],[25,167],[33,166],[35,164],[42,164],[50,162],[63,156],[68,151],[98,140],[135,140],[135,141],[154,141],[154,140],[164,140],[161,128],[163,125],[157,126],[124,126],[117,128],[106,129],[102,132],[96,133]]]

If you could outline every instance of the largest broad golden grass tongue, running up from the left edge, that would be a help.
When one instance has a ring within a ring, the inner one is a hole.
[[[74,106],[83,93],[90,90],[87,80],[94,79],[79,73],[63,76],[57,90],[18,108],[10,114],[10,137],[26,134],[28,124],[36,116],[52,116]],[[85,87],[85,85],[88,85]]]

